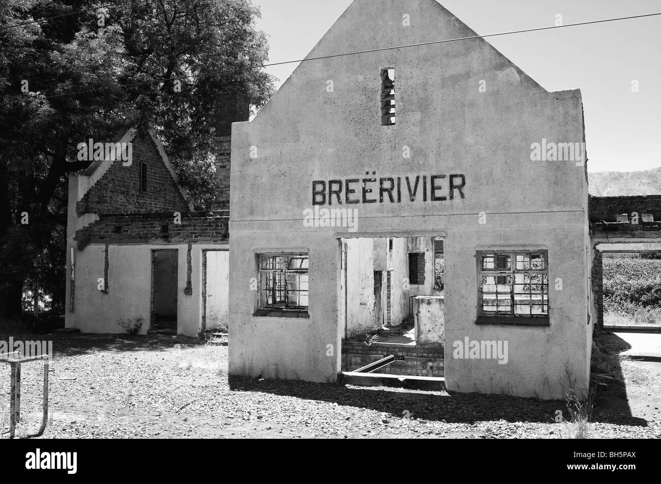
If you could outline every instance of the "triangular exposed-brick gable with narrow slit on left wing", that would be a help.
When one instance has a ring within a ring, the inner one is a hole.
[[[77,203],[84,213],[145,213],[188,211],[188,203],[176,186],[147,127],[141,125],[133,140],[130,166],[118,160]],[[140,192],[141,163],[147,163],[147,193]]]

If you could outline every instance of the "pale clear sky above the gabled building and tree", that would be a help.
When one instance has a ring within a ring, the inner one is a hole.
[[[253,0],[270,62],[302,59],[352,0]],[[478,34],[661,12],[661,0],[441,0]],[[442,39],[439,39],[442,40]],[[550,91],[580,88],[590,171],[661,166],[661,16],[486,39]],[[384,46],[387,47],[387,46]],[[280,87],[296,63],[268,68]],[[639,92],[631,82],[639,81]]]

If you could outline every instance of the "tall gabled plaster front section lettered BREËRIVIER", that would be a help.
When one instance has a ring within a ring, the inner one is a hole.
[[[457,392],[562,398],[566,368],[586,388],[586,164],[531,156],[584,143],[580,91],[481,38],[379,50],[476,35],[434,0],[356,0],[233,125],[231,374],[334,381],[391,356],[375,372]]]

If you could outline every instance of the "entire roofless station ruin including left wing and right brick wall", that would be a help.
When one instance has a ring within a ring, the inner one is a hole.
[[[476,35],[435,0],[355,0],[253,120],[219,96],[210,213],[128,128],[132,163],[69,182],[66,326],[228,325],[234,375],[587,388],[601,252],[661,244],[661,205],[588,195],[579,90],[482,38],[383,50]]]

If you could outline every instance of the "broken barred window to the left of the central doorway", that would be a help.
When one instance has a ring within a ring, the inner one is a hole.
[[[307,310],[307,254],[260,254],[259,308]]]

